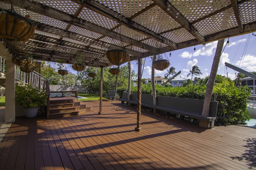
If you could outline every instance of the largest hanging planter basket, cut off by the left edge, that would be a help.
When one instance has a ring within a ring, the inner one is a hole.
[[[28,41],[34,36],[35,25],[29,16],[23,17],[0,8],[0,38],[9,41]]]

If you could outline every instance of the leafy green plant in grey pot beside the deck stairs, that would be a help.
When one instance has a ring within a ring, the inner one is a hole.
[[[41,90],[31,85],[16,86],[15,102],[24,108],[24,114],[28,118],[36,117],[39,107],[46,106],[48,95],[46,90]]]

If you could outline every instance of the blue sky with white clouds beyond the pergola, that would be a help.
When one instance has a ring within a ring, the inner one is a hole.
[[[224,45],[227,40],[228,39],[225,39]],[[256,36],[249,33],[230,37],[229,41],[230,45],[225,47],[220,58],[217,74],[225,76],[228,74],[228,77],[232,80],[236,78],[237,71],[232,70],[231,68],[226,68],[224,65],[225,62],[238,66],[248,72],[256,71]],[[192,69],[192,66],[197,65],[203,73],[200,78],[205,78],[210,75],[217,43],[218,41],[213,41],[206,45],[196,45],[195,52],[194,47],[188,47],[172,51],[171,57],[169,57],[170,52],[165,53],[165,55],[162,54],[162,56],[164,59],[166,58],[170,61],[170,66],[167,69],[174,66],[174,68],[176,68],[176,72],[181,71],[181,74],[178,77],[190,78],[190,76],[187,77],[189,70]],[[151,78],[152,59],[151,57],[147,57],[146,59],[144,58],[144,61],[145,65],[142,78]],[[132,70],[137,73],[138,65],[136,61],[132,61],[131,64]],[[51,63],[51,66],[57,68],[53,63]],[[155,76],[164,77],[164,74],[167,73],[167,69],[163,71],[155,70]],[[76,74],[76,71],[71,67],[69,67],[69,70]]]

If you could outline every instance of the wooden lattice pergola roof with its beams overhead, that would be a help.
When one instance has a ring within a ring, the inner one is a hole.
[[[256,30],[256,0],[0,0],[36,25],[12,53],[88,66],[109,66],[106,51],[125,48],[131,60]]]

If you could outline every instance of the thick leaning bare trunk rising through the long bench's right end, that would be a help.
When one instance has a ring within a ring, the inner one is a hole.
[[[208,116],[209,115],[209,110],[210,110],[210,102],[212,98],[212,91],[214,87],[214,82],[216,79],[217,71],[218,71],[218,66],[220,63],[220,56],[222,53],[222,48],[224,44],[224,39],[221,39],[218,41],[216,52],[214,55],[213,63],[212,63],[212,70],[210,73],[209,81],[207,84],[206,92],[205,92],[205,97],[204,97],[204,106],[203,106],[203,111],[202,115]],[[208,123],[208,125],[207,125]],[[200,121],[199,126],[201,127],[209,127],[209,122],[208,121]]]

